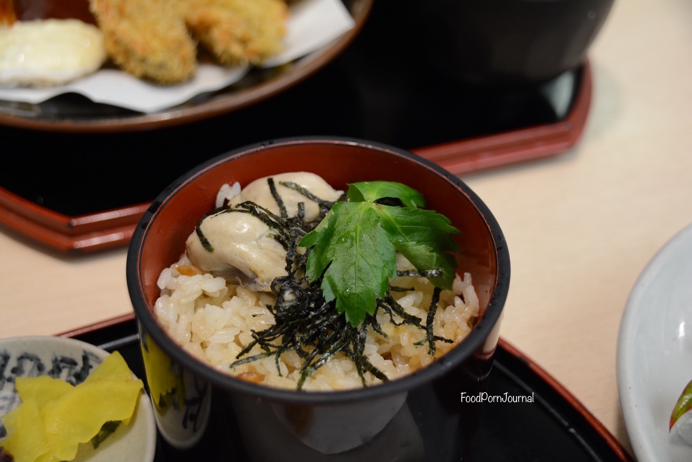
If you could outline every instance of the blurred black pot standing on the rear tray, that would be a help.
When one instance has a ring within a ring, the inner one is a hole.
[[[476,85],[536,85],[583,64],[613,0],[405,2],[425,44],[421,60]]]

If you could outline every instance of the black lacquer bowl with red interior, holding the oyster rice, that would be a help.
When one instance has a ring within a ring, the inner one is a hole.
[[[306,170],[345,190],[354,181],[401,181],[426,208],[461,231],[459,272],[480,300],[475,328],[447,355],[385,384],[334,392],[273,389],[221,373],[186,353],[154,314],[159,274],[214,207],[222,184]],[[509,254],[500,226],[457,177],[415,154],[380,143],[301,137],[221,155],[174,181],[138,224],[127,256],[149,389],[170,460],[459,461],[471,446],[480,405],[461,400],[486,389],[509,290]],[[168,459],[167,459],[168,460]]]

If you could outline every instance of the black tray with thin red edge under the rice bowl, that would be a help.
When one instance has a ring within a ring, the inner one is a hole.
[[[138,377],[145,377],[133,316],[63,336],[109,351],[118,350],[132,371]],[[464,462],[633,461],[608,429],[574,396],[504,339],[500,339],[495,351],[487,393],[501,397],[530,396],[533,402],[485,402],[473,454]],[[167,462],[161,450],[157,450],[155,461]]]

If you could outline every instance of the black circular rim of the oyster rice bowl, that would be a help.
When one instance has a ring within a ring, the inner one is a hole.
[[[300,145],[300,144],[325,144],[325,145],[353,145],[365,149],[378,150],[385,154],[392,155],[402,159],[417,163],[426,170],[431,170],[436,175],[447,181],[459,193],[464,195],[471,203],[478,215],[484,221],[486,230],[493,239],[493,247],[495,249],[495,290],[491,292],[488,306],[483,317],[478,321],[476,326],[471,330],[468,336],[462,340],[457,346],[451,349],[444,356],[435,360],[428,366],[419,369],[404,377],[399,377],[396,380],[390,380],[383,384],[375,386],[363,387],[357,389],[347,389],[338,391],[296,391],[289,389],[280,389],[275,387],[258,386],[244,380],[233,377],[233,375],[224,374],[217,371],[212,366],[201,362],[199,359],[186,353],[178,344],[168,335],[163,329],[154,314],[147,307],[145,294],[140,280],[140,255],[143,250],[143,245],[148,236],[151,225],[161,211],[161,208],[170,201],[170,199],[187,186],[192,180],[200,175],[203,175],[208,170],[219,166],[220,164],[232,161],[239,157],[244,157],[254,152],[264,150],[265,148],[277,148],[283,145]],[[495,220],[490,209],[482,202],[471,188],[464,181],[456,177],[448,170],[441,168],[436,163],[432,163],[417,154],[413,154],[408,150],[395,148],[394,146],[358,139],[349,136],[291,136],[277,138],[268,141],[261,141],[230,150],[224,154],[208,159],[199,166],[188,170],[181,177],[172,182],[163,192],[154,199],[152,205],[145,211],[140,222],[134,230],[131,238],[129,249],[127,251],[126,263],[126,279],[127,288],[131,303],[134,307],[136,319],[142,332],[152,337],[154,342],[162,348],[162,350],[173,359],[174,362],[181,364],[183,368],[191,371],[195,375],[203,377],[216,387],[242,393],[246,396],[253,396],[270,400],[273,402],[287,402],[295,405],[334,405],[345,404],[347,402],[373,400],[391,396],[396,393],[406,392],[410,389],[415,389],[421,385],[432,382],[446,371],[454,368],[464,359],[471,357],[473,353],[484,343],[486,337],[491,334],[495,325],[500,321],[504,303],[507,300],[509,292],[509,251],[507,242],[505,242],[504,234],[500,229],[500,225]],[[494,349],[494,348],[493,348]]]

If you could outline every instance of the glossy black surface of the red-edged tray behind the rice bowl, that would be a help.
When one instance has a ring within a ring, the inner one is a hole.
[[[377,1],[361,33],[331,64],[224,116],[116,134],[0,127],[0,186],[64,215],[82,215],[149,202],[202,161],[264,139],[355,136],[413,149],[560,120],[540,85],[480,88],[450,78],[428,59],[419,3]]]

